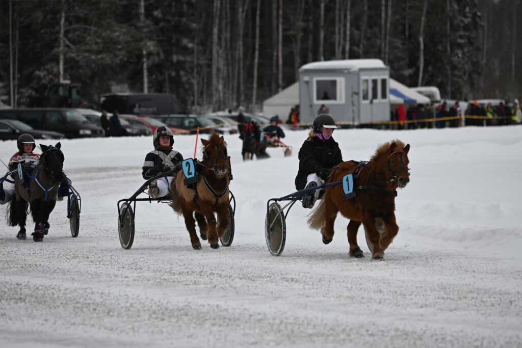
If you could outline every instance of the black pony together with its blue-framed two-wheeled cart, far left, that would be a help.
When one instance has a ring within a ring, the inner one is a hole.
[[[54,209],[60,190],[60,199],[67,197],[67,219],[70,234],[77,237],[80,230],[81,197],[72,185],[72,181],[63,172],[64,155],[56,146],[41,145],[42,155],[32,164],[19,164],[17,169],[8,171],[0,178],[0,187],[4,183],[14,184],[10,199],[9,225],[20,226],[18,239],[26,239],[27,206],[31,208],[35,222],[33,241],[43,241],[49,233],[49,215]],[[12,178],[14,176],[14,179]],[[7,197],[6,197],[7,200]]]

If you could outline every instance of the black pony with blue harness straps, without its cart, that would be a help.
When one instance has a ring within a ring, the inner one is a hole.
[[[15,195],[9,206],[8,223],[10,226],[20,226],[19,239],[25,239],[28,206],[35,223],[34,233],[31,234],[34,242],[43,241],[43,236],[49,231],[49,215],[63,180],[64,154],[61,146],[60,142],[56,146],[40,145],[42,155],[34,162],[32,172],[28,173],[28,188],[20,181],[18,173],[15,174]]]

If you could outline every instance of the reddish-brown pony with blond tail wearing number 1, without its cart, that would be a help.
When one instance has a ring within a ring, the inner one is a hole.
[[[350,219],[347,226],[349,255],[364,257],[357,244],[357,231],[362,223],[371,245],[372,258],[384,257],[384,250],[399,231],[395,222],[395,196],[396,189],[404,188],[410,181],[409,150],[409,144],[405,146],[399,140],[390,141],[377,149],[370,162],[348,161],[331,169],[328,182],[340,181],[346,174],[353,173],[355,197],[343,200],[343,185],[326,188],[323,200],[308,219],[312,229],[321,229],[324,244],[334,238],[334,222],[337,213],[341,212]]]

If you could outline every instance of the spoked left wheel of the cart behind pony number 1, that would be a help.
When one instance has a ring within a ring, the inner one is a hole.
[[[265,220],[265,239],[270,254],[279,256],[284,249],[287,238],[287,225],[281,206],[273,202],[268,207]]]

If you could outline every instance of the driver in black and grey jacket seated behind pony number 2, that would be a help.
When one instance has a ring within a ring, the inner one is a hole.
[[[158,127],[152,135],[152,144],[154,145],[154,150],[147,153],[145,163],[143,163],[142,175],[146,180],[174,170],[183,161],[182,154],[172,150],[174,134],[172,134],[172,130],[169,128],[165,126]],[[170,184],[173,178],[174,173],[151,181],[148,195],[151,198],[167,196],[170,192]]]

